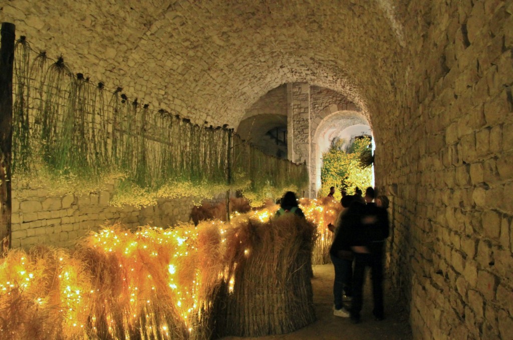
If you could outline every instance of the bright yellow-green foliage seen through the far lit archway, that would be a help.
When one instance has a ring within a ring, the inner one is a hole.
[[[370,137],[357,138],[344,150],[343,139],[333,139],[330,148],[322,156],[320,197],[326,196],[330,187],[336,188],[335,198],[340,199],[341,189],[354,194],[356,187],[365,191],[371,185],[372,167],[362,168],[360,164],[360,155],[367,151],[370,142]]]

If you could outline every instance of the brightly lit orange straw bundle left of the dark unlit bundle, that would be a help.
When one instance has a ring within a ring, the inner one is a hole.
[[[119,227],[86,239],[79,250],[96,295],[93,338],[210,337],[210,310],[222,277],[219,225],[173,230]]]

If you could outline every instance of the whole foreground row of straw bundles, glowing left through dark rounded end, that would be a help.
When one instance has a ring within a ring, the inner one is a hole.
[[[214,326],[240,335],[303,327],[314,319],[314,226],[269,221],[276,209],[228,225],[115,225],[73,253],[11,250],[0,259],[0,338],[208,339]]]

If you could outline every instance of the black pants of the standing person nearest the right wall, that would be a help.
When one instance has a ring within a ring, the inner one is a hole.
[[[383,311],[383,242],[373,243],[370,254],[354,254],[353,297],[351,302],[351,318],[360,319],[363,305],[363,284],[365,268],[370,267],[374,309],[372,314],[377,318],[384,317]]]

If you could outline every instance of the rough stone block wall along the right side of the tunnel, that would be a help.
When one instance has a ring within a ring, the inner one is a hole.
[[[397,59],[400,105],[371,108],[378,186],[392,198],[388,277],[416,339],[511,338],[513,4],[406,11],[423,38]]]

